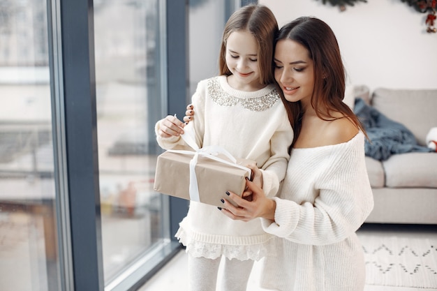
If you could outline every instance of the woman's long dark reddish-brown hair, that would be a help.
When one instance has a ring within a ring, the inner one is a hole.
[[[346,72],[343,61],[341,61],[339,44],[332,29],[316,17],[299,17],[280,29],[275,43],[284,39],[294,40],[303,45],[313,61],[314,89],[311,106],[316,110],[317,116],[324,120],[334,120],[338,117],[332,116],[332,112],[340,112],[366,135],[366,130],[360,120],[350,107],[343,103]],[[302,105],[300,102],[288,102],[282,91],[279,90],[279,92],[295,132],[294,144],[302,126]],[[323,117],[319,107],[327,109],[327,112],[324,111],[323,114],[327,114],[328,119]]]

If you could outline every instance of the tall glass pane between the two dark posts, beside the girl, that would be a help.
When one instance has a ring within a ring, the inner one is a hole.
[[[168,239],[153,191],[161,117],[158,0],[94,1],[105,285]]]

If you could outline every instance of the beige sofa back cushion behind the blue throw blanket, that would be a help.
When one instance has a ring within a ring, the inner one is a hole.
[[[378,88],[373,91],[371,105],[411,130],[422,146],[426,146],[429,130],[437,126],[437,89]]]

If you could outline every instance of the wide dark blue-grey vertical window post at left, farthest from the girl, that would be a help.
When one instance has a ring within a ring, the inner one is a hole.
[[[92,0],[61,0],[66,156],[75,290],[103,290],[94,13]]]

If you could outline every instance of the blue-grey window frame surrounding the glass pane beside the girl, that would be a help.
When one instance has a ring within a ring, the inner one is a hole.
[[[168,41],[167,46],[178,48],[166,50],[164,61],[167,66],[161,70],[167,80],[163,104],[168,114],[184,114],[186,98],[181,98],[181,92],[186,97],[186,3],[175,0],[161,0],[161,3],[165,7],[165,36],[162,39]],[[152,250],[105,286],[93,1],[47,0],[47,15],[61,290],[136,290],[179,252],[181,246],[170,236],[167,244]],[[188,203],[170,197],[165,205],[170,212],[168,232],[173,234],[188,210]]]

